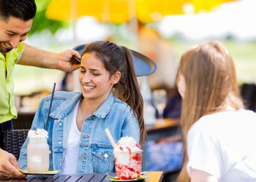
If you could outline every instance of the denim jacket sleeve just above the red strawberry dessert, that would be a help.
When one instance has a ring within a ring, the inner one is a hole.
[[[130,113],[124,121],[121,137],[130,136],[135,138],[135,141],[140,141],[140,126],[137,117]]]

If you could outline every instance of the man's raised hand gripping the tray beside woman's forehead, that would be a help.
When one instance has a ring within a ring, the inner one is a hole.
[[[62,71],[74,71],[78,69],[80,63],[73,57],[80,60],[79,52],[75,50],[65,50],[64,52],[59,53],[56,68]]]

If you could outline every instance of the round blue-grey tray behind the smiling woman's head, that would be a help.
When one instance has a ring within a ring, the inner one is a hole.
[[[74,47],[73,50],[76,50],[79,52],[80,55],[83,54],[83,48],[86,46],[86,44],[80,44],[77,47]],[[149,74],[153,74],[154,71],[157,70],[157,64],[154,63],[151,58],[148,58],[146,55],[143,55],[140,52],[137,52],[135,50],[130,50],[132,52],[132,57],[134,60],[134,66],[135,66],[135,74],[136,76],[145,76]],[[78,58],[75,58],[80,63],[80,60]]]

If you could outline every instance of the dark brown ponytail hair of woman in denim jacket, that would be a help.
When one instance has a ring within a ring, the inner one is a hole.
[[[84,53],[94,52],[102,60],[110,75],[120,71],[121,79],[114,85],[114,94],[120,100],[126,102],[138,118],[140,125],[140,143],[146,141],[146,127],[143,119],[143,98],[140,93],[132,54],[127,47],[118,46],[110,41],[94,41],[83,50]]]

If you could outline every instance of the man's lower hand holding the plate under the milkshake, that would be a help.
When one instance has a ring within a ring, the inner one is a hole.
[[[14,155],[0,149],[0,178],[25,178]]]

